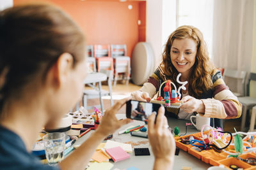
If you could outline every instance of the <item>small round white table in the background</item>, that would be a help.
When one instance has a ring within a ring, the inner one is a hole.
[[[103,111],[103,101],[102,101],[102,95],[101,95],[101,81],[106,81],[108,76],[104,73],[89,73],[86,75],[86,78],[84,79],[84,84],[89,85],[93,89],[99,91],[99,98],[100,98],[100,109]],[[98,83],[98,87],[95,87],[95,83]],[[84,104],[84,103],[83,103]],[[77,104],[76,110],[79,110],[79,104]]]

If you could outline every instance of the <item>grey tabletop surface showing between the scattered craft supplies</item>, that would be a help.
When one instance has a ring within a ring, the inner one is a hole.
[[[118,119],[120,118],[125,118],[124,114],[118,114],[116,115]],[[170,127],[174,128],[175,126],[179,127],[180,129],[180,134],[185,133],[185,124],[186,122],[189,122],[188,120],[178,120],[177,118],[168,118],[168,124]],[[114,167],[112,169],[118,168],[118,169],[127,169],[128,167],[136,167],[140,170],[144,169],[152,169],[154,165],[154,155],[151,149],[151,146],[148,142],[147,138],[140,138],[136,136],[131,136],[131,134],[120,134],[118,135],[118,131],[124,130],[126,127],[129,127],[131,125],[145,125],[144,122],[134,120],[134,122],[124,125],[120,129],[118,129],[114,134],[113,134],[113,141],[118,141],[122,143],[130,143],[132,145],[132,148],[149,148],[150,150],[150,155],[149,156],[135,156],[134,152],[129,153],[130,158],[126,160],[122,160],[120,162],[114,163],[112,160],[110,160],[111,163],[114,164]],[[147,126],[146,126],[147,127]],[[193,134],[199,132],[196,130],[195,127],[188,126],[188,132],[187,134]],[[88,132],[88,134],[84,135],[82,138],[79,138],[76,141],[76,145],[79,145],[85,141],[90,134],[92,134],[93,131]],[[106,141],[104,141],[106,142]],[[182,169],[182,167],[191,167],[191,169],[207,169],[210,167],[209,164],[205,164],[199,159],[196,159],[192,155],[190,155],[187,152],[184,152],[183,150],[180,150],[179,155],[175,155],[175,160],[174,160],[174,166],[173,169]]]

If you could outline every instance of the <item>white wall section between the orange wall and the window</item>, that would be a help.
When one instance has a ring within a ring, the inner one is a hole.
[[[176,1],[147,1],[146,41],[152,45],[156,58],[155,68],[162,59],[164,44],[168,36],[175,30]]]

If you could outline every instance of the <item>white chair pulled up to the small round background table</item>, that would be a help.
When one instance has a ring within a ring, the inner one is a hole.
[[[84,108],[90,110],[93,109],[94,107],[96,107],[96,105],[93,106],[87,106],[87,99],[100,99],[100,108],[102,111],[104,111],[104,105],[103,105],[103,101],[102,101],[102,96],[110,96],[110,103],[111,106],[113,106],[113,99],[112,99],[112,81],[113,81],[113,73],[111,70],[100,70],[100,73],[104,73],[107,74],[108,76],[108,88],[109,90],[101,90],[101,92],[99,91],[99,89],[95,88],[92,84],[87,84],[90,87],[92,87],[93,89],[90,90],[84,90],[83,92],[83,106]]]

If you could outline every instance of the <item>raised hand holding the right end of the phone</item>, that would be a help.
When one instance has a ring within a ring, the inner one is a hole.
[[[155,157],[154,169],[172,169],[175,141],[168,129],[169,126],[166,117],[164,117],[163,106],[158,110],[156,124],[155,118],[155,114],[148,117],[148,139]]]

